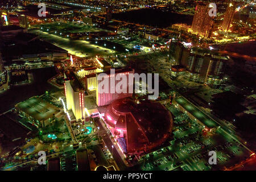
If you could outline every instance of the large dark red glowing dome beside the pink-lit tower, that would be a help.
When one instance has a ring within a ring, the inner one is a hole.
[[[112,102],[104,118],[123,154],[144,154],[160,146],[173,126],[170,111],[159,102],[137,104],[130,98]]]

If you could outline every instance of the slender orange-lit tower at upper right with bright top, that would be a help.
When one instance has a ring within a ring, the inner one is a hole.
[[[236,3],[230,2],[228,7],[226,8],[226,13],[224,15],[224,20],[222,22],[222,30],[224,30],[225,32],[229,30],[235,11]]]

